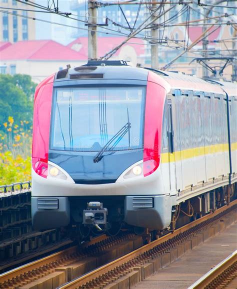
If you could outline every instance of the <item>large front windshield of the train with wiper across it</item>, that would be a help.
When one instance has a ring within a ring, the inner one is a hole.
[[[144,86],[58,88],[54,94],[50,148],[105,151],[142,148]],[[126,123],[128,133],[110,139]]]

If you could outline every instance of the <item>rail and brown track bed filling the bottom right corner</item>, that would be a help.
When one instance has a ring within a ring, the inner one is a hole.
[[[237,287],[237,250],[199,278],[188,289]]]

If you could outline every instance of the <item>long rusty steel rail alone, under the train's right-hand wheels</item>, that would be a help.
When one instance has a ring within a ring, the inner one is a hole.
[[[225,211],[227,208],[230,208],[235,204],[237,204],[237,200],[233,200],[231,203],[226,204],[226,205],[216,209],[214,212],[211,212],[211,213],[209,213],[209,214],[207,214],[207,215],[205,215],[199,219],[196,219],[193,222],[188,223],[188,224],[174,230],[173,232],[170,232],[170,233],[168,233],[168,234],[166,234],[166,235],[164,235],[164,236],[162,236],[162,237],[160,237],[160,238],[158,238],[158,239],[156,239],[156,240],[154,240],[154,241],[152,241],[152,242],[150,242],[150,243],[148,243],[148,244],[146,244],[146,245],[118,258],[118,259],[116,259],[116,260],[114,260],[114,261],[111,261],[105,265],[102,265],[102,266],[94,269],[94,270],[91,270],[90,272],[83,274],[80,277],[75,278],[75,279],[65,283],[64,285],[59,286],[58,289],[59,288],[60,289],[65,289],[65,288],[74,289],[78,286],[82,286],[82,285],[86,284],[87,282],[101,276],[102,274],[105,274],[108,271],[111,271],[111,270],[115,269],[116,267],[125,264],[128,261],[131,261],[135,257],[140,256],[141,254],[147,252],[148,250],[161,244],[162,242],[168,241],[168,240],[174,238],[175,236],[177,236],[178,234],[183,233],[183,232],[187,231],[188,229],[206,221],[207,219],[218,215],[219,213]]]

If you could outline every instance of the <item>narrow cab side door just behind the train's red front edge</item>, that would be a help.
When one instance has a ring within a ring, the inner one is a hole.
[[[173,145],[172,104],[168,99],[168,163],[170,194],[176,194],[175,157]]]

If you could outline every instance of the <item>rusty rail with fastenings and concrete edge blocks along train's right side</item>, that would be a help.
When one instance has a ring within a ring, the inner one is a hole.
[[[58,286],[58,289],[115,289],[118,288],[118,284],[130,288],[197,245],[201,239],[204,241],[219,231],[224,225],[223,220],[230,217],[231,208],[236,209],[236,203],[235,200],[228,208],[221,207],[212,214],[205,215],[119,259]]]

